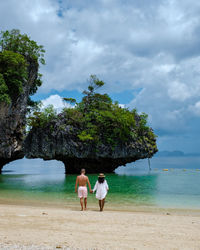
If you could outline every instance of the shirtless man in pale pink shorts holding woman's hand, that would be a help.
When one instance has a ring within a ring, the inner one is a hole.
[[[78,197],[80,198],[81,211],[83,211],[83,199],[85,210],[87,209],[87,184],[89,186],[90,193],[92,193],[91,185],[88,177],[85,175],[85,169],[81,169],[81,175],[77,176],[76,184],[75,184],[75,192],[77,193],[77,185],[78,187]]]

